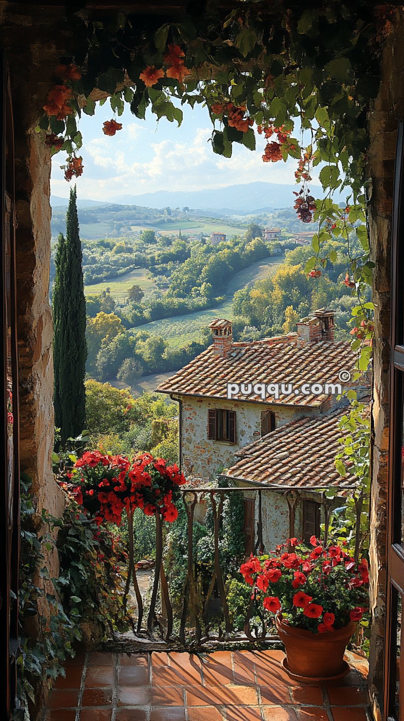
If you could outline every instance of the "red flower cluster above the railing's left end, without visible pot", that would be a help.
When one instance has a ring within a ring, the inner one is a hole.
[[[146,516],[160,513],[172,523],[178,516],[177,490],[185,477],[177,464],[141,454],[131,461],[125,456],[109,456],[86,451],[74,464],[63,483],[77,503],[95,516],[97,523],[107,521],[118,526],[124,512],[141,508]]]

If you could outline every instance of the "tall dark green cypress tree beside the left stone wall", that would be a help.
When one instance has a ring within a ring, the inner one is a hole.
[[[66,238],[58,236],[53,286],[53,403],[61,443],[82,433],[85,425],[85,364],[87,359],[86,301],[82,268],[82,244],[76,187],[70,190],[66,215]]]

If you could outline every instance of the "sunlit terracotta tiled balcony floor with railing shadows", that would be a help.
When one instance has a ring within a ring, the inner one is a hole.
[[[89,653],[70,660],[45,721],[366,721],[366,662],[340,686],[300,686],[282,651]]]

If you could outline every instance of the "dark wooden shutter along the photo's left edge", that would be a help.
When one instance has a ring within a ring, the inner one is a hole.
[[[8,719],[17,696],[18,654],[18,565],[19,565],[19,436],[17,377],[17,313],[15,277],[15,200],[12,100],[9,73],[0,50],[1,124],[1,253],[0,326],[2,350],[1,377],[1,571],[0,626],[3,668],[0,681],[0,716]]]

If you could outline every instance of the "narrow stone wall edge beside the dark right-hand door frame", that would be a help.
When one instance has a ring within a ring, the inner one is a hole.
[[[371,609],[372,639],[369,688],[374,717],[382,702],[386,587],[386,503],[389,443],[390,363],[390,237],[392,183],[398,120],[404,118],[404,9],[396,9],[392,32],[382,52],[382,82],[369,113],[370,239],[376,264],[374,300],[374,399],[372,410],[373,459],[371,502]]]

